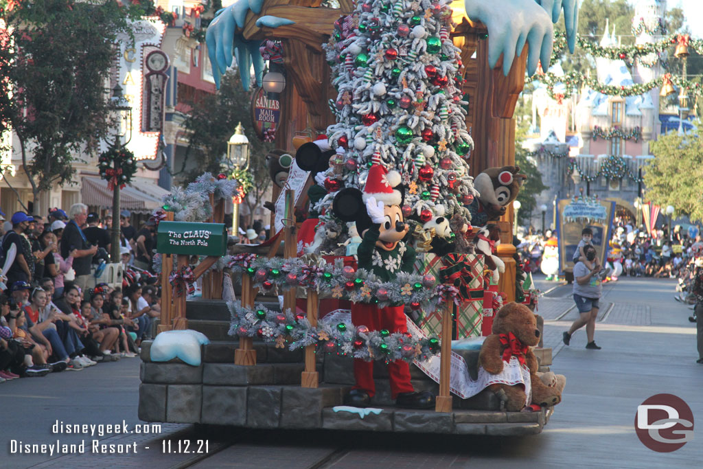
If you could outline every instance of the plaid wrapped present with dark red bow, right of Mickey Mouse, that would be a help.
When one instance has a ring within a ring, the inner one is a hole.
[[[457,307],[453,306],[452,338],[478,337],[481,335],[483,311],[483,274],[484,259],[482,255],[447,255],[439,258],[430,252],[418,252],[415,271],[421,275],[431,274],[437,281],[456,285],[464,300]],[[424,311],[418,326],[427,334],[441,333],[441,313]]]

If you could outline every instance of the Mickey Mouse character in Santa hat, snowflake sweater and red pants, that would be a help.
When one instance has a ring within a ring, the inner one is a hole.
[[[394,189],[400,183],[400,174],[373,165],[368,172],[363,193],[346,188],[335,196],[333,211],[342,221],[356,221],[356,229],[363,240],[357,250],[359,268],[373,272],[378,278],[390,281],[396,272],[411,272],[415,250],[404,243],[409,231],[404,222],[401,205],[404,195]],[[352,303],[352,323],[369,330],[386,329],[391,333],[407,333],[404,307],[379,308],[375,304]],[[415,392],[410,383],[410,366],[398,360],[388,364],[391,394],[396,405],[411,409],[429,409],[434,406],[430,392]],[[354,359],[356,385],[344,397],[344,404],[364,407],[370,405],[375,394],[373,363]]]

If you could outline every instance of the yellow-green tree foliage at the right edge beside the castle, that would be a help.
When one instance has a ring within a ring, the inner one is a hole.
[[[702,131],[698,127],[697,135]],[[677,214],[692,221],[703,220],[703,143],[697,135],[660,136],[651,144],[656,158],[644,172],[645,200],[673,205]]]

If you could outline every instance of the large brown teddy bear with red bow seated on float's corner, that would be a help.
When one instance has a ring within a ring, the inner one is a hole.
[[[539,365],[530,347],[538,344],[540,335],[534,314],[524,304],[510,302],[496,314],[492,334],[479,352],[479,366],[492,375],[488,388],[501,400],[501,410],[517,412],[529,404],[560,403],[563,387],[545,385],[537,375]]]

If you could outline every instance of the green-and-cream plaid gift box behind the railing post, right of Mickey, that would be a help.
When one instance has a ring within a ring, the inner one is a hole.
[[[464,278],[465,300],[459,306],[453,305],[453,331],[454,340],[481,335],[481,322],[483,311],[483,269],[482,255],[463,255],[470,276]],[[415,260],[415,271],[421,275],[432,274],[439,279],[440,269],[451,264],[448,258],[440,258],[430,252],[419,252]],[[423,311],[423,316],[418,321],[418,326],[427,334],[441,334],[441,312]]]

